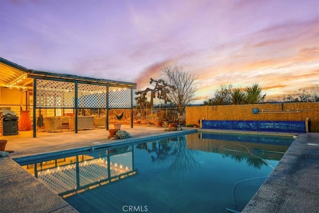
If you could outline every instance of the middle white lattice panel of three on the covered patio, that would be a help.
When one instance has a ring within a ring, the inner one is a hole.
[[[79,108],[106,108],[106,86],[78,84]]]

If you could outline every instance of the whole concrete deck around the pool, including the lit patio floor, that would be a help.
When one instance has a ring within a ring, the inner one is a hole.
[[[0,212],[77,212],[22,169],[14,159],[23,160],[30,159],[34,155],[44,157],[57,153],[87,151],[92,146],[112,147],[120,143],[156,140],[167,134],[174,136],[196,131],[194,128],[175,132],[165,132],[157,127],[134,127],[133,129],[123,127],[122,129],[130,132],[132,137],[109,140],[105,129],[79,131],[78,134],[74,132],[45,133],[38,134],[37,138],[1,137],[8,140],[6,150],[14,152],[9,153],[8,157],[0,157]],[[317,213],[319,212],[318,180],[319,133],[300,134],[243,212]]]

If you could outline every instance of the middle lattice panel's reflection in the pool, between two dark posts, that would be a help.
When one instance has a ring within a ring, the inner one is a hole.
[[[108,178],[107,157],[79,163],[80,187]]]

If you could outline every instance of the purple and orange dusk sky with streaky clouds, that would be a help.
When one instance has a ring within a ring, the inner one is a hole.
[[[138,90],[177,63],[196,103],[253,83],[278,100],[319,84],[319,0],[0,0],[0,57]]]

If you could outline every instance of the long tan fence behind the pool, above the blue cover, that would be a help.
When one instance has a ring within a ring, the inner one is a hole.
[[[259,113],[253,114],[252,109]],[[298,112],[296,112],[298,111]],[[319,132],[319,102],[247,104],[186,107],[186,124],[199,120],[311,121],[311,132]]]

